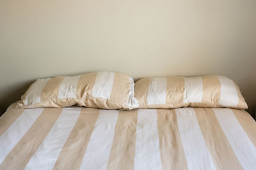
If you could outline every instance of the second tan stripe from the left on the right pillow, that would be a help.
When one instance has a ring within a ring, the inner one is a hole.
[[[166,103],[170,108],[185,106],[184,103],[184,78],[167,78]]]

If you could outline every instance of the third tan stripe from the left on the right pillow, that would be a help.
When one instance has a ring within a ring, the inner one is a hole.
[[[198,107],[216,107],[220,101],[221,84],[218,76],[202,76],[203,97]]]

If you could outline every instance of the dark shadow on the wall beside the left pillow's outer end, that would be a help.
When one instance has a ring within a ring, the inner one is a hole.
[[[3,115],[10,104],[20,100],[20,97],[26,92],[32,83],[33,81],[29,81],[12,92],[0,97],[0,116]]]

